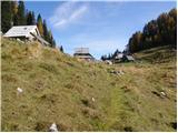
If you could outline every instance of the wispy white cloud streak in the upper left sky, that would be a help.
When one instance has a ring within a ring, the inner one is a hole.
[[[75,1],[63,2],[55,10],[49,20],[55,28],[61,28],[78,21],[87,10],[87,4],[78,4]]]

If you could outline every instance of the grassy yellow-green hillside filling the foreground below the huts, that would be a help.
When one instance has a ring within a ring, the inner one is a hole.
[[[174,60],[87,63],[3,38],[1,50],[2,131],[176,131]]]

